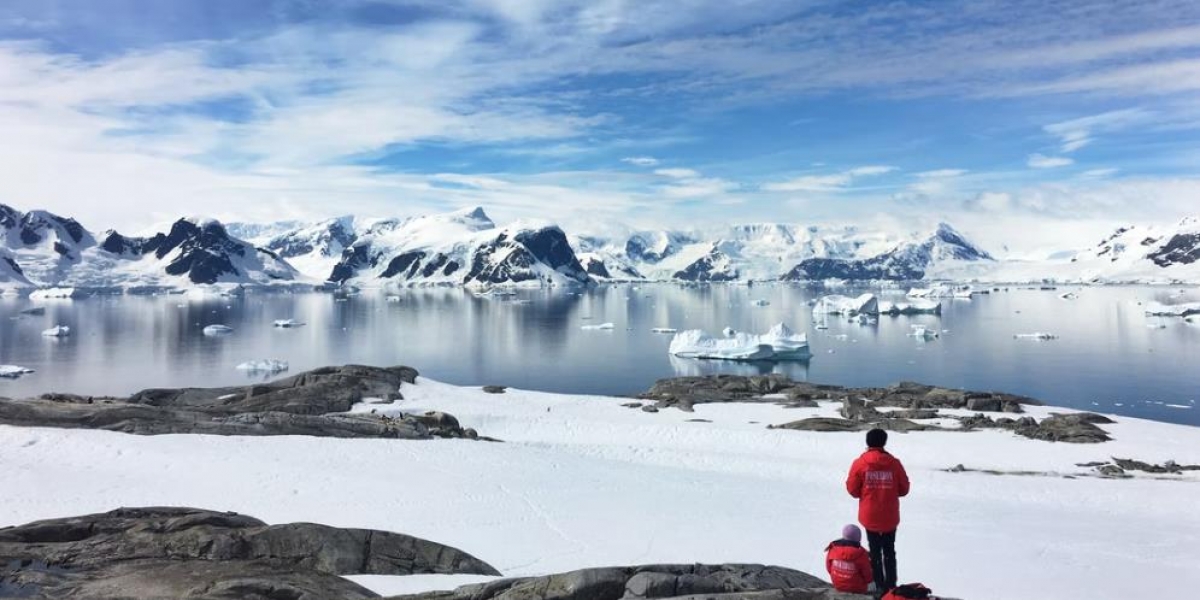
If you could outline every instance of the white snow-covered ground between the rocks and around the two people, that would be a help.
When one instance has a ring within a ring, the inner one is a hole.
[[[844,488],[862,433],[767,430],[835,407],[624,408],[628,398],[419,379],[395,404],[445,410],[504,439],[138,437],[0,426],[0,526],[121,505],[236,510],[413,534],[506,576],[667,562],[758,562],[823,575],[826,544],[857,505]],[[1034,415],[1049,408],[1034,408]],[[712,422],[696,422],[704,419]],[[1190,598],[1200,589],[1200,473],[1132,480],[947,473],[1086,473],[1112,456],[1200,463],[1200,430],[1118,418],[1098,445],[1008,432],[893,434],[913,481],[898,536],[901,580],[980,599]],[[479,578],[354,577],[384,593]]]

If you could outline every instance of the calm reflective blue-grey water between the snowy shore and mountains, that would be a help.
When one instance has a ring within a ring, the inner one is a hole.
[[[475,298],[460,289],[412,290],[400,302],[383,293],[338,301],[326,294],[245,298],[94,296],[42,302],[46,314],[20,317],[29,300],[0,300],[0,364],[36,370],[0,380],[0,395],[44,391],[128,394],[152,386],[239,384],[234,368],[252,359],[283,359],[292,373],[334,364],[409,365],[457,384],[634,394],[676,374],[782,372],[842,385],[918,380],[1026,394],[1070,406],[1200,425],[1200,325],[1145,317],[1138,301],[1200,300],[1200,290],[1085,288],[1078,300],[1057,292],[1009,292],[946,300],[941,317],[883,317],[877,325],[828,319],[815,330],[806,301],[823,294],[799,287],[670,284],[612,286],[582,294],[521,292],[518,300]],[[846,294],[859,290],[847,289]],[[881,298],[902,295],[884,290]],[[754,306],[754,300],[769,306]],[[276,329],[274,319],[307,323]],[[667,355],[670,335],[652,328],[726,325],[762,332],[784,320],[808,330],[806,364],[731,364]],[[582,325],[612,322],[611,331]],[[234,332],[206,337],[205,325]],[[922,342],[923,323],[946,330]],[[1151,329],[1153,323],[1165,329]],[[52,325],[73,335],[42,337]],[[1014,340],[1049,331],[1058,340]],[[258,377],[262,379],[262,377]],[[1174,406],[1172,406],[1174,404]]]

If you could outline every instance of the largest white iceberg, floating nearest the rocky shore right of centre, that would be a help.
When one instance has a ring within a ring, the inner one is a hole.
[[[668,350],[684,359],[804,360],[811,358],[808,336],[780,323],[763,335],[734,331],[715,337],[700,329],[676,334]]]

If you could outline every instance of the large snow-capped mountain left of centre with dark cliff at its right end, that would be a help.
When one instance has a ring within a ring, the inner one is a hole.
[[[557,226],[497,228],[480,208],[376,222],[346,248],[329,280],[466,286],[592,281]]]

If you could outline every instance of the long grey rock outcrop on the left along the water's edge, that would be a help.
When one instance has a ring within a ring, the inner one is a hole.
[[[469,437],[450,415],[344,414],[366,398],[401,397],[409,367],[325,367],[241,388],[151,389],[127,398],[48,394],[0,398],[0,424],[120,431],[142,436],[319,436],[428,439]]]

